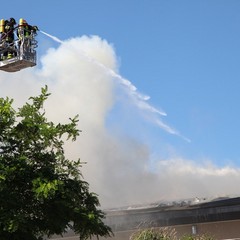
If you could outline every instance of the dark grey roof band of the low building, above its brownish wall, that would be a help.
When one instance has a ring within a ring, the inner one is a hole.
[[[190,199],[106,211],[113,231],[240,219],[240,197]]]

